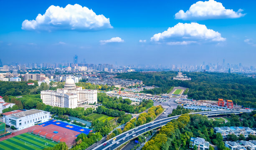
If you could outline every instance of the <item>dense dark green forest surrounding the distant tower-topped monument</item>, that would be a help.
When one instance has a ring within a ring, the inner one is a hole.
[[[256,108],[256,79],[246,75],[218,72],[184,72],[190,81],[172,80],[177,72],[128,72],[117,78],[142,80],[145,85],[159,88],[145,90],[144,93],[166,93],[171,87],[188,87],[188,97],[195,100],[233,100],[238,105]]]

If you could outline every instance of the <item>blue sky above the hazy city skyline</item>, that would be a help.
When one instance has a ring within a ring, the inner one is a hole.
[[[79,62],[85,58],[87,63],[117,61],[123,65],[171,65],[198,64],[203,61],[221,63],[224,58],[227,63],[241,62],[255,66],[256,1],[217,0],[226,9],[233,9],[233,13],[175,18],[175,14],[180,10],[186,12],[197,2],[198,0],[2,0],[0,59],[3,63],[73,62],[73,56],[77,54]],[[56,10],[55,6],[64,8],[68,4],[72,7],[79,4],[88,7],[96,15],[103,15],[104,25],[93,20],[95,24],[88,28],[76,23],[71,29],[66,22],[62,27],[54,28],[48,24],[38,24],[35,29],[29,25],[22,26],[24,20],[30,22],[35,20],[38,14],[45,14],[51,5],[54,5],[53,10]],[[239,9],[243,11],[240,12]],[[170,32],[163,33],[168,28],[172,28]],[[186,30],[182,35],[180,30],[183,28]],[[195,35],[194,32],[189,32],[190,28],[194,28],[198,33]],[[154,36],[157,33],[162,33],[159,38]],[[112,39],[113,37],[119,37],[121,40]]]

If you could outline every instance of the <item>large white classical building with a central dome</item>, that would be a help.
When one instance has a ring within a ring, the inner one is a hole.
[[[57,107],[89,107],[97,103],[97,90],[82,90],[76,87],[75,81],[68,78],[63,89],[41,91],[43,103]]]

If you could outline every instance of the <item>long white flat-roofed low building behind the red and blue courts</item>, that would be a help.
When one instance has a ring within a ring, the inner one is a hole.
[[[48,121],[50,119],[50,112],[32,109],[3,116],[3,122],[6,125],[13,125],[18,130],[22,130],[37,123]]]

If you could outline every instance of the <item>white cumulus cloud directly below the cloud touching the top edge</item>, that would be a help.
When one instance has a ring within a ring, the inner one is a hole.
[[[167,43],[169,45],[188,45],[195,42],[222,42],[226,38],[221,33],[207,29],[198,23],[178,23],[162,33],[151,37],[152,42]]]

